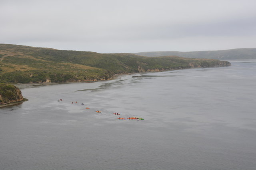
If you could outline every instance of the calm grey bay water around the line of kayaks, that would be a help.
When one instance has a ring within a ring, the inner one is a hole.
[[[255,170],[256,60],[231,63],[18,85],[29,101],[0,109],[0,169]]]

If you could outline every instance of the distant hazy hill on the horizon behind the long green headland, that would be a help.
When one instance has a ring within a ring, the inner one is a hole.
[[[218,51],[154,51],[134,53],[147,57],[177,55],[187,58],[208,58],[208,59],[256,59],[256,48],[239,48]]]

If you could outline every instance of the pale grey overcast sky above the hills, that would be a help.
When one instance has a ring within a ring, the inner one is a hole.
[[[256,47],[255,0],[0,0],[0,43],[98,53]]]

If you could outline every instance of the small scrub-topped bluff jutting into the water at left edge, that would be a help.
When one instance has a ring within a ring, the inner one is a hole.
[[[24,98],[18,87],[11,84],[0,83],[0,106],[20,101],[24,101]]]

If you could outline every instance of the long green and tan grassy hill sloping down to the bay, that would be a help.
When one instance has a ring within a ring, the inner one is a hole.
[[[98,81],[115,74],[230,65],[214,59],[101,54],[0,44],[0,83]]]

